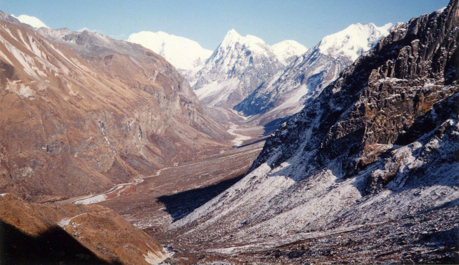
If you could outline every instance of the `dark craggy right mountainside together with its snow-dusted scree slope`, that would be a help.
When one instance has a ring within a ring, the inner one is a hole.
[[[230,253],[382,223],[396,231],[406,218],[457,211],[458,25],[453,0],[394,29],[267,140],[251,173],[174,226]],[[394,240],[413,238],[409,254],[451,255],[455,216],[444,236],[419,221]]]

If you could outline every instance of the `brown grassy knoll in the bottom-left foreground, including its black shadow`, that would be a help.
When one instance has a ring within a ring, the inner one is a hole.
[[[0,196],[1,264],[156,264],[162,245],[99,205],[27,203]]]

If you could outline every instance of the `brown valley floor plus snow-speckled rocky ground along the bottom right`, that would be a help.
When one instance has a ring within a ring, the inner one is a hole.
[[[67,203],[97,203],[167,246],[168,264],[452,264],[459,262],[459,205],[375,224],[304,232],[232,245],[200,241],[171,224],[239,181],[263,148],[263,128],[229,128],[236,148],[175,164],[155,175]],[[443,220],[442,226],[438,226]],[[425,229],[428,227],[428,229]],[[218,229],[218,227],[216,227]],[[185,229],[186,230],[186,229]],[[428,260],[425,260],[428,257]]]

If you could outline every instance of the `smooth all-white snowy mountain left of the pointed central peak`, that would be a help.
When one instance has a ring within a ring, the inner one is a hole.
[[[129,42],[140,44],[161,55],[191,83],[201,70],[212,50],[206,50],[196,41],[171,35],[162,31],[141,31],[129,35]]]

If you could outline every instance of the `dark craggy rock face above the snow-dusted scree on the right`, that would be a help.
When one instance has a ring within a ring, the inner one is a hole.
[[[377,160],[402,138],[405,144],[413,141],[405,131],[414,120],[458,90],[457,5],[453,1],[442,13],[412,19],[381,39],[281,127],[254,166],[266,161],[273,148],[282,150],[273,166],[301,151],[294,143],[306,140],[308,129],[311,135],[303,151],[317,150],[313,165],[340,160],[346,176]]]

